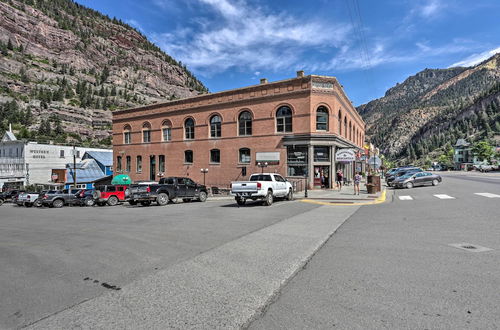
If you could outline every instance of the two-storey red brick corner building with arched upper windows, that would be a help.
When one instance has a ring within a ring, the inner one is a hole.
[[[304,76],[113,112],[115,173],[189,176],[207,186],[261,172],[331,187],[339,148],[362,150],[365,123],[336,78]]]

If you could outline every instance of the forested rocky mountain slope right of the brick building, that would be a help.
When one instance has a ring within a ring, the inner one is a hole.
[[[500,54],[473,67],[425,69],[358,111],[393,159],[422,160],[458,138],[500,134]]]

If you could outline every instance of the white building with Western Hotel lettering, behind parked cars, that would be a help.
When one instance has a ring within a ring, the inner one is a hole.
[[[113,152],[111,149],[76,147],[76,161],[80,162],[87,151]],[[12,131],[7,131],[0,142],[0,189],[48,185],[52,181],[52,169],[65,169],[72,161],[72,146],[17,140]]]

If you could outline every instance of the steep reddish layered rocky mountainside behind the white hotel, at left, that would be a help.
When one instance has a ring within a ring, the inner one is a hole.
[[[109,145],[111,111],[208,92],[131,26],[72,0],[0,0],[0,134]]]

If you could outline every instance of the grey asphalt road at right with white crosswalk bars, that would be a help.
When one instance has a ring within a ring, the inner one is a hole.
[[[353,214],[250,328],[499,329],[498,177],[392,194]]]

